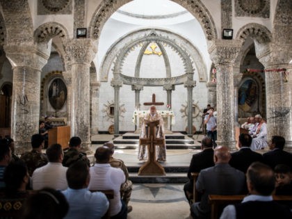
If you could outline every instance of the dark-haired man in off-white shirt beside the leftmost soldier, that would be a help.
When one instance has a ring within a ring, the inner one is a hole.
[[[62,165],[63,156],[61,145],[54,144],[47,148],[49,163],[33,172],[31,177],[33,190],[45,187],[65,190],[68,187],[66,180],[67,168]]]

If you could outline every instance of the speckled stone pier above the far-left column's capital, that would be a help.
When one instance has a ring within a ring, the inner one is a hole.
[[[33,43],[33,19],[28,0],[0,1],[6,26],[6,44]]]

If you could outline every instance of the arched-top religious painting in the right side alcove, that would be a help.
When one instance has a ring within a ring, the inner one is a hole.
[[[257,112],[259,99],[257,83],[248,79],[244,81],[238,90],[238,108],[244,112]]]

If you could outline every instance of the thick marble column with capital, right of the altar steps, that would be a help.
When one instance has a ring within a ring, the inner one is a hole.
[[[235,149],[233,65],[241,48],[238,40],[216,40],[209,47],[217,74],[217,144]]]

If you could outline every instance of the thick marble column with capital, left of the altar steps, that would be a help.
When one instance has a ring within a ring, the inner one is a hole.
[[[67,40],[65,52],[72,63],[71,136],[79,136],[82,151],[90,153],[90,63],[97,45],[86,38]]]

